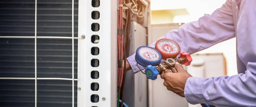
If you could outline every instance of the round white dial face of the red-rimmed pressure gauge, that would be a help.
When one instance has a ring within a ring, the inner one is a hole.
[[[158,43],[158,48],[166,53],[175,53],[178,52],[178,46],[176,43],[171,40],[161,40]]]

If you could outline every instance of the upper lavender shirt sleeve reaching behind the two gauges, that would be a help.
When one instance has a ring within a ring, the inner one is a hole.
[[[161,38],[175,40],[180,45],[180,52],[195,52],[207,49],[222,41],[235,37],[235,28],[232,17],[232,1],[227,0],[221,8],[215,10],[211,15],[205,14],[198,21],[183,24],[178,29],[169,31]],[[159,39],[161,39],[159,38]],[[158,40],[159,40],[158,39]],[[155,43],[149,46],[155,47]],[[179,56],[179,55],[178,55]],[[135,53],[127,58],[134,73],[144,69],[135,61]],[[163,62],[163,60],[162,60]]]

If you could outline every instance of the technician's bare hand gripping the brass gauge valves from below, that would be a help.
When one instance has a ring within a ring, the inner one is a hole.
[[[181,97],[185,97],[185,84],[187,79],[192,76],[177,62],[175,64],[175,69],[177,70],[177,73],[168,72],[161,74],[161,78],[164,79],[163,85],[167,87],[167,90],[170,90]]]

